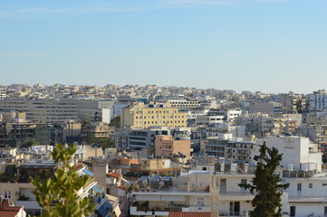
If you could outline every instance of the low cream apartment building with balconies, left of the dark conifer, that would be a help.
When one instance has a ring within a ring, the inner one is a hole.
[[[177,178],[144,176],[134,184],[135,202],[130,214],[168,216],[169,212],[210,212],[211,216],[246,216],[254,196],[238,186],[254,177],[233,168],[190,170]],[[223,168],[223,166],[222,166]],[[230,166],[228,168],[231,168]]]

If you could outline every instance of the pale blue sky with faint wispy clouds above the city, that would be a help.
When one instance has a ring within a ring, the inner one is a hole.
[[[0,84],[327,89],[326,0],[1,0]]]

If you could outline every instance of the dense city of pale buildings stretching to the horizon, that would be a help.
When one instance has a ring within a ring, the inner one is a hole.
[[[83,180],[81,216],[250,216],[263,146],[283,154],[282,216],[327,216],[326,117],[326,90],[2,85],[0,216],[56,207],[39,184],[62,170]]]

